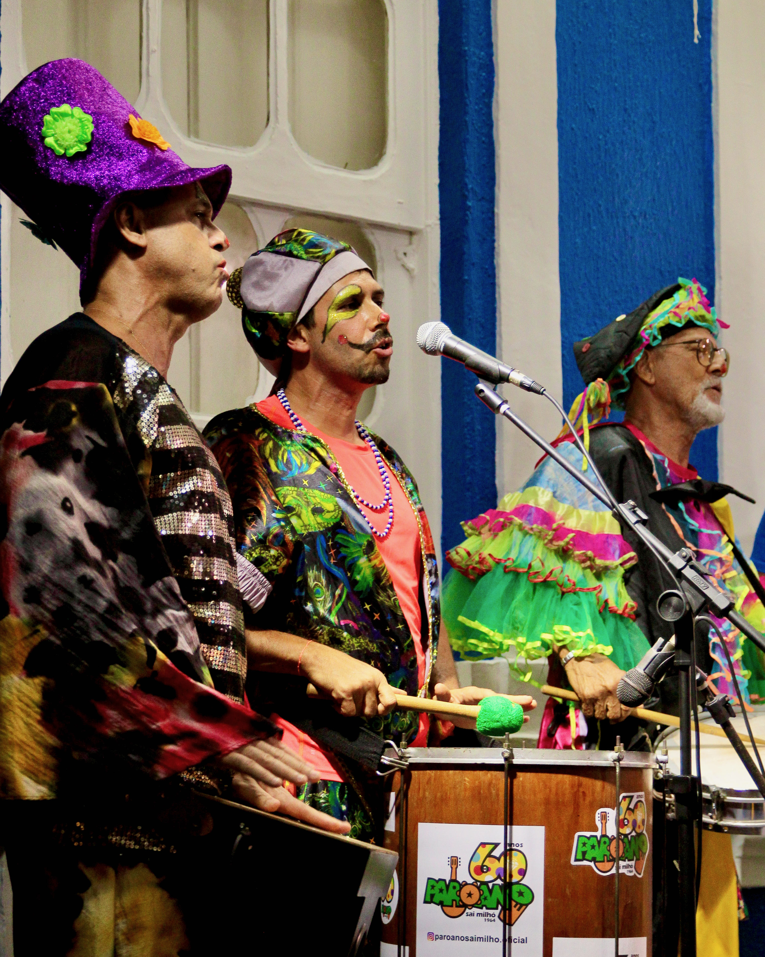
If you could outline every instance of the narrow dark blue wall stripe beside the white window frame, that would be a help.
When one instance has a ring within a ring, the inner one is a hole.
[[[494,268],[494,52],[492,0],[439,0],[438,147],[441,318],[456,335],[496,351]],[[442,360],[443,549],[459,523],[496,504],[494,416],[477,379]]]

